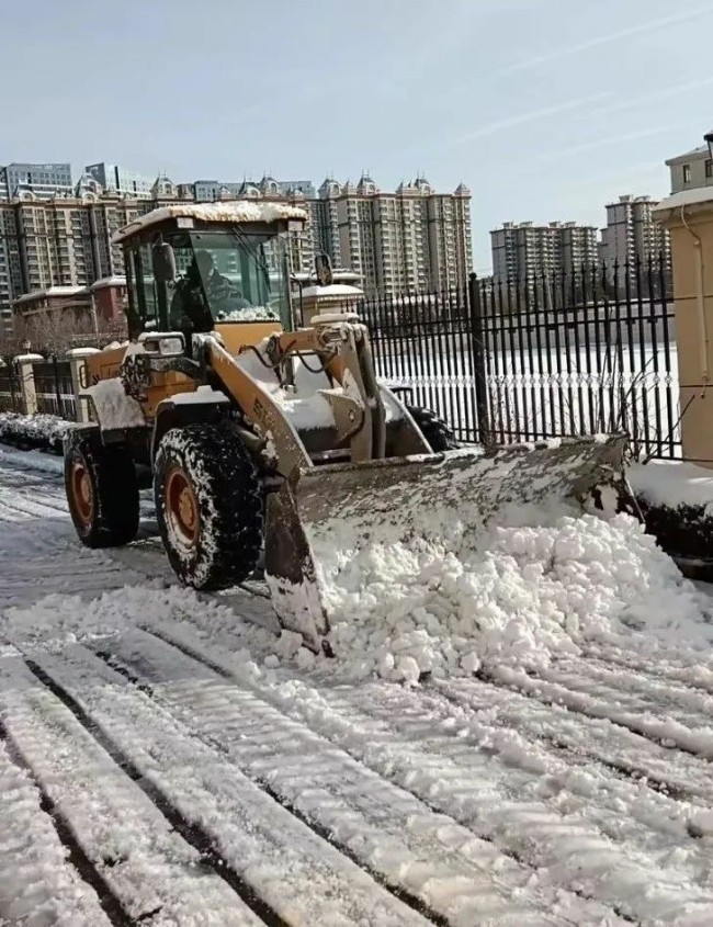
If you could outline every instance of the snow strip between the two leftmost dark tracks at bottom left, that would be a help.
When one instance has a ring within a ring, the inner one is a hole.
[[[0,665],[5,727],[126,913],[123,923],[262,924],[20,657]],[[146,874],[151,878],[147,879]]]

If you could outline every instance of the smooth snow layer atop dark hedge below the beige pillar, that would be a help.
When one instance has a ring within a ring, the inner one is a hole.
[[[683,461],[650,461],[635,464],[627,475],[636,495],[649,505],[694,506],[713,516],[713,470]]]

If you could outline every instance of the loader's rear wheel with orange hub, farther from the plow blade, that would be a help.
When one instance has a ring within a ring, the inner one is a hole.
[[[69,515],[82,544],[120,547],[138,532],[138,483],[131,453],[78,431],[65,452]]]

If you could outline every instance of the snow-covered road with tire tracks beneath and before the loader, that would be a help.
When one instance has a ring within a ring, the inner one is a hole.
[[[280,664],[264,590],[178,588],[148,501],[81,549],[58,463],[0,449],[0,924],[713,924],[713,660]]]

